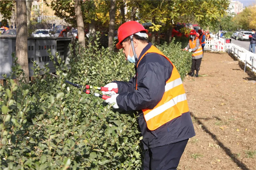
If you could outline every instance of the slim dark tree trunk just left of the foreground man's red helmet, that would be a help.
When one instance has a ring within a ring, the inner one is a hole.
[[[108,47],[109,51],[113,50],[114,46],[114,36],[115,36],[115,0],[110,1],[109,9],[109,33],[108,33]]]

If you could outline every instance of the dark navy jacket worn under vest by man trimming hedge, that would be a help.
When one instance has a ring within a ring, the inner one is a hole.
[[[140,57],[152,46],[149,43]],[[114,81],[118,85],[117,104],[122,110],[139,111],[139,128],[143,136],[144,149],[156,148],[183,141],[195,136],[189,112],[183,113],[154,131],[147,128],[142,109],[152,109],[163,97],[166,81],[171,77],[173,66],[158,53],[147,53],[139,62],[135,62],[135,75],[129,82]],[[137,90],[135,90],[137,79]]]

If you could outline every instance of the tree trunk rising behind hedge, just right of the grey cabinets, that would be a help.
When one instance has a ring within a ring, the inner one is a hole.
[[[81,0],[75,0],[76,24],[78,29],[78,44],[80,45],[80,47],[85,48],[84,25],[80,3]]]

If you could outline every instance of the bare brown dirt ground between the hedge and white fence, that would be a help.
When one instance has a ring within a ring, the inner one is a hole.
[[[196,136],[178,170],[256,170],[256,80],[227,53],[204,53],[200,77],[186,77]]]

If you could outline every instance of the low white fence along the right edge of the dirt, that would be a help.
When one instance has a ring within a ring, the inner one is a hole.
[[[252,71],[256,72],[256,54],[248,51],[247,49],[241,48],[236,44],[226,43],[224,38],[212,38],[211,40],[205,41],[204,51],[223,51],[228,54],[233,54],[239,60],[245,63]]]

